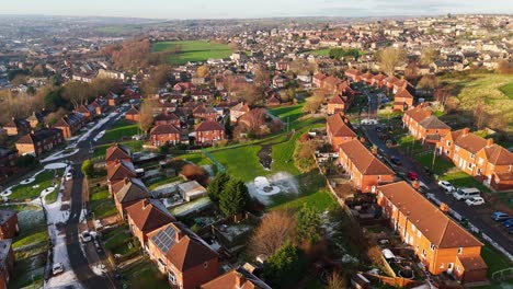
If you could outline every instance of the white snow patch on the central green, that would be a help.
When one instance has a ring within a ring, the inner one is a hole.
[[[258,176],[246,184],[250,195],[263,205],[271,205],[271,195],[299,194],[299,184],[289,173],[278,172],[270,176]]]

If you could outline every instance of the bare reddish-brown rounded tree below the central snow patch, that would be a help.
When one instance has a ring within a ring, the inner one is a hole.
[[[250,240],[249,254],[271,256],[295,236],[294,217],[285,210],[266,213]]]

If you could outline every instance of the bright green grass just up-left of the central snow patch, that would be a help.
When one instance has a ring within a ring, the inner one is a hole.
[[[244,182],[253,181],[259,175],[266,175],[267,172],[260,164],[256,153],[260,146],[246,146],[235,149],[213,152],[212,155],[225,166],[230,176],[238,177]]]

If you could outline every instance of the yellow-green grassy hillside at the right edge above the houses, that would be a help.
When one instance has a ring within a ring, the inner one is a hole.
[[[509,119],[508,131],[513,130],[513,84],[512,77],[508,74],[468,74],[443,78],[448,84],[455,84],[453,93],[459,100],[459,111],[471,113],[476,101],[483,97],[487,113],[502,115]]]

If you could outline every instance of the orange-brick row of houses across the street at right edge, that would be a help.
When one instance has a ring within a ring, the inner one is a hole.
[[[407,111],[402,122],[415,139],[435,146],[437,155],[465,173],[497,190],[513,188],[513,153],[493,139],[471,134],[468,128],[452,130],[426,106]]]

